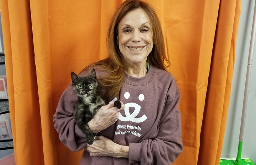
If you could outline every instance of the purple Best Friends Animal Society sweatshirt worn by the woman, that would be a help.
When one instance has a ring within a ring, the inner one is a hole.
[[[88,74],[84,72],[81,76]],[[98,74],[102,73],[96,71]],[[119,97],[125,109],[119,112],[118,121],[97,136],[105,136],[120,145],[129,145],[129,159],[91,157],[84,150],[80,165],[173,164],[183,150],[178,109],[180,91],[174,77],[153,66],[144,77],[126,75]],[[82,150],[86,146],[84,135],[74,122],[76,101],[70,84],[53,116],[60,140],[72,151]]]

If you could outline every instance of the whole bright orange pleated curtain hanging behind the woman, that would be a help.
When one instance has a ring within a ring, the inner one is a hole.
[[[184,151],[175,165],[218,165],[241,0],[147,0],[156,9],[168,68],[181,91]],[[70,72],[107,55],[122,0],[0,0],[16,165],[78,165],[53,114]]]

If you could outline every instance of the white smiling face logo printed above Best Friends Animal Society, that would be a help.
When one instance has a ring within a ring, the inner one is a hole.
[[[125,92],[124,93],[124,98],[129,99],[130,98],[130,93]],[[143,94],[140,94],[138,96],[138,99],[140,101],[143,101],[145,99],[145,96]],[[135,108],[134,112],[132,112],[132,114],[130,114],[130,112],[129,112],[130,107]],[[143,122],[147,119],[146,115],[143,115],[139,118],[136,118],[136,116],[139,114],[140,110],[141,110],[140,105],[138,105],[136,103],[126,103],[125,104],[125,109],[124,109],[126,117],[122,116],[122,114],[119,112],[118,119],[121,120],[121,121],[132,121],[132,122],[135,122],[135,123]]]

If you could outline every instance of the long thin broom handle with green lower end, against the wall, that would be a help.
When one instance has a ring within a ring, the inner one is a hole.
[[[239,135],[238,153],[237,153],[236,162],[235,162],[235,164],[238,164],[238,165],[239,165],[239,161],[241,160],[241,153],[242,153],[242,146],[243,146],[243,139],[244,139],[245,116],[246,116],[249,84],[250,84],[250,77],[251,77],[252,55],[253,55],[255,33],[256,33],[255,20],[256,20],[256,2],[254,5],[254,16],[252,20],[251,41],[250,41],[248,65],[247,65],[247,71],[246,71],[246,81],[245,81],[243,111],[242,111],[240,135]]]

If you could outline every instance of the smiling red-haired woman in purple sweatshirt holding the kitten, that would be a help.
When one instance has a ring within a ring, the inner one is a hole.
[[[108,58],[80,73],[95,68],[104,98],[115,97],[88,122],[97,137],[87,144],[75,125],[70,85],[54,114],[60,140],[72,151],[84,149],[80,165],[171,165],[183,150],[180,92],[165,70],[169,61],[156,12],[145,2],[125,1],[111,20],[107,43]],[[121,109],[114,107],[116,97]]]

